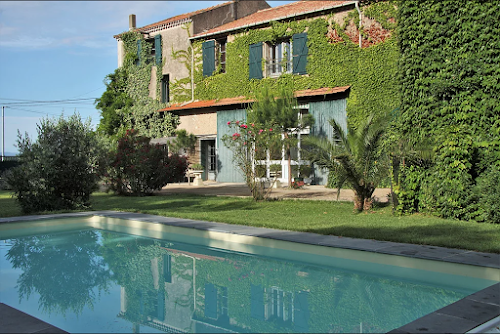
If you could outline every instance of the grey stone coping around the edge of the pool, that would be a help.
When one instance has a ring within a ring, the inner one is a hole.
[[[0,218],[0,224],[42,219],[89,216],[102,216],[109,218],[136,220],[142,222],[171,225],[176,227],[194,228],[204,231],[232,233],[253,237],[298,242],[310,245],[353,249],[381,254],[398,255],[411,258],[453,262],[500,269],[500,254],[481,253],[437,246],[403,244],[389,241],[354,239],[332,235],[321,235],[309,232],[294,232],[191,219],[169,218],[130,212],[88,211],[66,214],[10,217]],[[456,303],[453,303],[433,313],[423,316],[409,324],[394,329],[389,333],[466,333],[499,316],[500,283],[497,283],[470,296],[467,296],[457,301]]]

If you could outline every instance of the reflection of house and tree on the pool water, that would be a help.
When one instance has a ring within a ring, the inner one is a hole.
[[[471,293],[96,230],[10,242],[20,299],[78,314],[116,284],[106,321],[134,332],[384,332]]]

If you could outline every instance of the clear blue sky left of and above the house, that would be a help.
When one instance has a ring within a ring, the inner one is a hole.
[[[95,126],[93,98],[117,67],[113,35],[224,1],[0,1],[0,105],[5,105],[5,151],[17,153],[17,131],[36,138],[42,117],[75,110]],[[268,1],[272,7],[291,1]],[[20,100],[65,103],[19,104]],[[15,103],[15,104],[14,104]],[[0,128],[0,132],[1,132]]]

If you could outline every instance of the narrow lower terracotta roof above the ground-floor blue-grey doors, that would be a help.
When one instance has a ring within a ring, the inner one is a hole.
[[[295,97],[310,97],[310,96],[319,96],[319,95],[331,95],[336,93],[343,93],[347,91],[350,86],[343,87],[335,87],[335,88],[319,88],[319,89],[306,89],[296,91],[294,93]],[[210,107],[219,107],[219,106],[229,106],[234,104],[245,104],[252,103],[253,99],[247,98],[245,96],[238,97],[230,97],[220,100],[203,100],[203,101],[194,101],[194,102],[184,102],[184,103],[176,103],[171,106],[158,110],[158,111],[181,111],[181,110],[191,110],[191,109],[202,109],[202,108],[210,108]]]

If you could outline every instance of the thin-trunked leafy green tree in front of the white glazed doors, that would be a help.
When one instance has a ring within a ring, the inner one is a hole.
[[[264,128],[275,129],[281,134],[278,142],[285,148],[288,160],[288,186],[292,186],[291,148],[297,145],[297,134],[314,124],[312,115],[300,115],[293,91],[281,88],[277,95],[267,86],[256,94],[256,101],[248,109],[249,122],[261,124]]]

